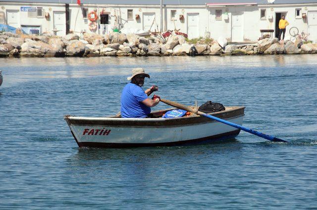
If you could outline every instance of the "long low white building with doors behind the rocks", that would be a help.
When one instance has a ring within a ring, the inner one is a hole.
[[[106,34],[115,26],[153,32],[161,28],[159,0],[81,0],[81,5],[76,0],[26,1],[31,0],[0,2],[0,23],[21,27],[27,33],[54,32],[60,36],[70,30]],[[291,27],[297,27],[299,33],[309,33],[309,40],[317,41],[317,0],[222,1],[164,0],[162,29],[179,30],[189,39],[222,36],[232,42],[256,41],[260,30],[273,30],[277,37],[278,21],[285,15],[290,23],[286,36]],[[98,16],[95,28],[88,19],[94,10]]]

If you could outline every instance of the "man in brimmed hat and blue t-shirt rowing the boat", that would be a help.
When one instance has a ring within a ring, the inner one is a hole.
[[[145,77],[150,78],[150,75],[144,72],[143,68],[134,68],[132,76],[127,80],[131,80],[126,84],[121,94],[121,117],[122,118],[148,118],[151,113],[151,107],[158,105],[160,97],[154,95],[152,99],[148,98],[154,91],[159,90],[159,87],[142,89]]]

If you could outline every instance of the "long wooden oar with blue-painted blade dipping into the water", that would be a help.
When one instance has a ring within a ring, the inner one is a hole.
[[[174,102],[174,101],[170,101],[170,100],[166,100],[166,99],[162,99],[162,98],[160,99],[160,101],[163,102],[163,103],[165,103],[165,104],[168,104],[168,105],[170,105],[170,106],[176,107],[176,108],[178,108],[178,109],[183,109],[183,110],[186,110],[186,111],[188,111],[188,112],[193,112],[193,113],[196,113],[197,115],[200,115],[200,116],[203,116],[203,117],[206,117],[206,118],[210,118],[210,119],[215,120],[215,121],[218,121],[218,122],[220,122],[220,123],[224,123],[224,124],[226,124],[226,125],[228,125],[228,126],[236,127],[236,128],[238,128],[238,129],[244,130],[244,131],[246,131],[246,132],[252,133],[252,134],[254,134],[254,135],[260,136],[260,137],[265,138],[265,139],[270,140],[270,141],[288,142],[288,141],[285,141],[285,140],[283,140],[283,139],[276,138],[276,137],[274,137],[274,136],[267,135],[267,134],[264,134],[264,133],[262,133],[262,132],[259,132],[259,131],[250,129],[250,128],[248,128],[248,127],[239,126],[239,125],[237,125],[237,124],[235,124],[235,123],[231,123],[231,122],[229,122],[229,121],[222,120],[222,119],[217,118],[217,117],[214,117],[214,116],[212,116],[212,115],[207,115],[207,114],[205,114],[204,112],[200,112],[200,111],[198,111],[198,110],[194,110],[194,109],[192,109],[192,108],[190,108],[190,107],[188,107],[188,106],[182,105],[182,104],[177,103],[177,102]]]

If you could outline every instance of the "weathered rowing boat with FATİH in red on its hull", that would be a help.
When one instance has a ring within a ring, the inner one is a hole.
[[[243,106],[226,107],[211,115],[242,125]],[[171,110],[171,109],[168,109]],[[79,147],[176,146],[231,139],[240,129],[192,114],[181,118],[160,118],[166,111],[152,112],[157,118],[64,117]]]

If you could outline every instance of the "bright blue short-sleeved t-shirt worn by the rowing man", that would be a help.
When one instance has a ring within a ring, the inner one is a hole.
[[[121,94],[122,118],[146,118],[151,113],[151,107],[142,103],[148,95],[144,90],[133,83],[128,83]]]

